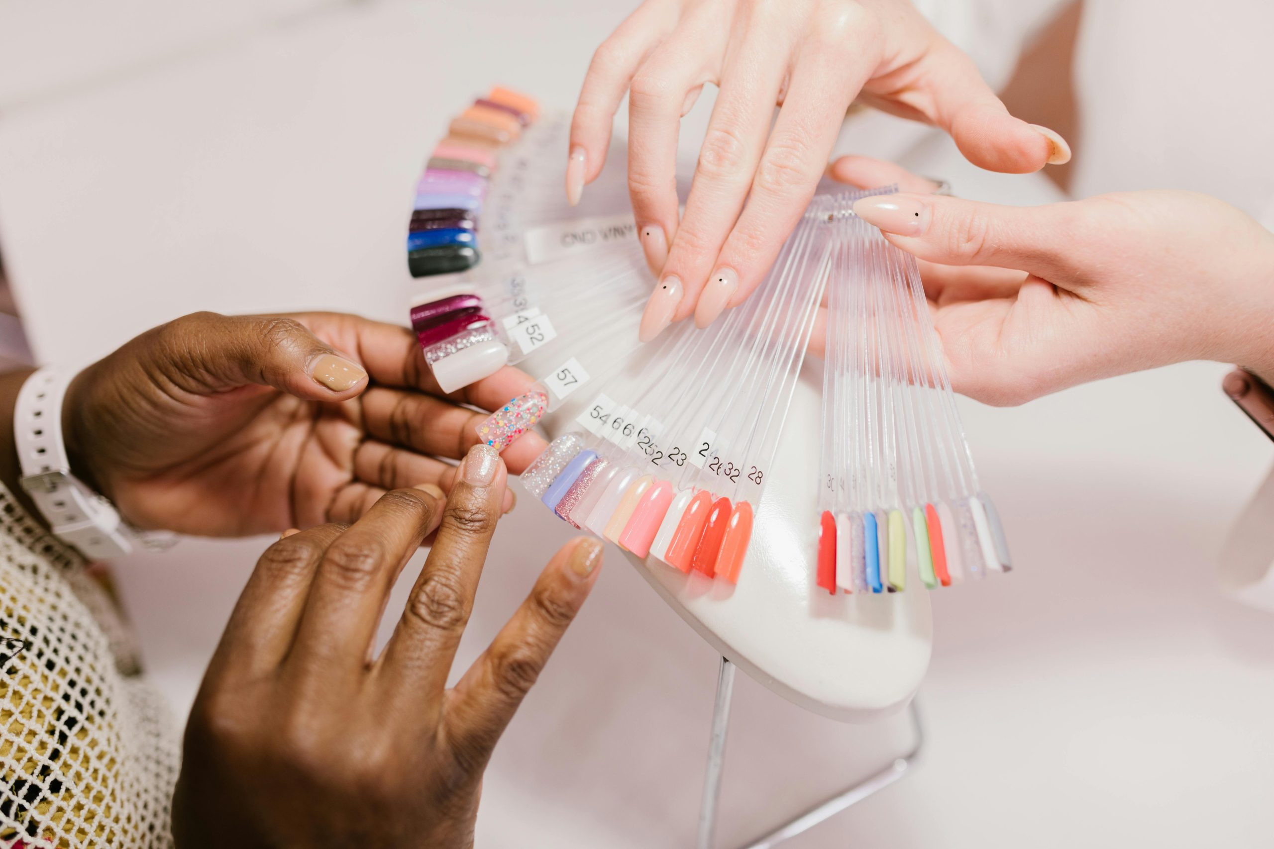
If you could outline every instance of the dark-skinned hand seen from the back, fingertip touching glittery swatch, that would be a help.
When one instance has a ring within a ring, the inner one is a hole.
[[[178,846],[473,845],[492,748],[601,563],[601,544],[567,544],[447,690],[505,482],[498,454],[478,446],[446,505],[431,485],[395,490],[352,527],[292,532],[266,550],[186,728]],[[390,589],[434,528],[376,657]]]

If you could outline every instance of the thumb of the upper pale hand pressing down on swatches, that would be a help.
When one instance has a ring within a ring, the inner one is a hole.
[[[975,165],[1024,174],[1070,162],[1070,145],[1060,135],[1009,115],[968,56],[947,45],[926,57],[926,117],[956,141]]]

